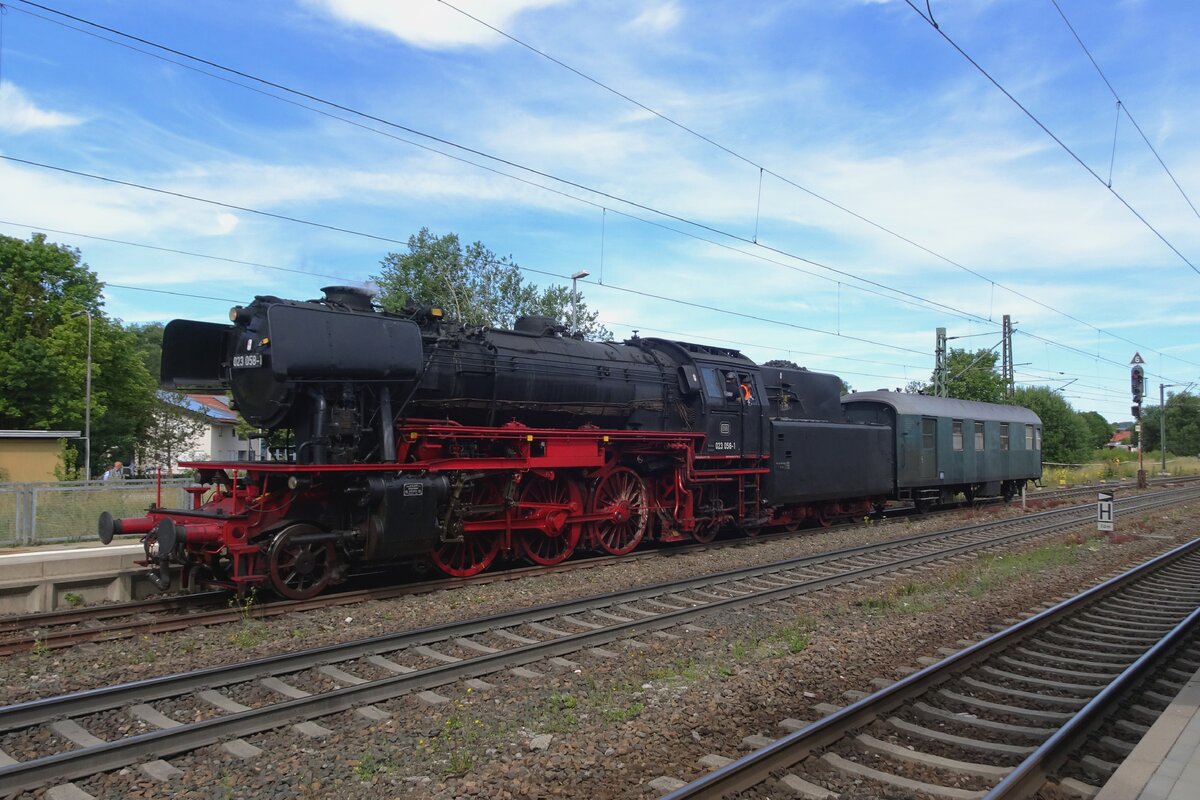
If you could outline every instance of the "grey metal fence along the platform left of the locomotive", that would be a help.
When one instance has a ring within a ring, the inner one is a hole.
[[[162,482],[162,505],[186,509],[190,479]],[[96,519],[140,517],[157,497],[156,481],[0,483],[0,547],[96,539]],[[98,540],[97,540],[98,541]]]

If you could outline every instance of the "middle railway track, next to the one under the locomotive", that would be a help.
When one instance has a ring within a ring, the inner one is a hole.
[[[1122,506],[1148,511],[1198,497],[1200,489],[1182,489],[1129,498]],[[5,706],[0,736],[22,750],[7,753],[16,763],[0,766],[0,794],[216,742],[245,754],[253,747],[241,736],[262,730],[299,724],[305,733],[316,724],[312,720],[343,711],[384,718],[388,711],[376,704],[406,694],[502,670],[530,676],[528,667],[540,662],[571,667],[564,657],[576,652],[611,657],[605,645],[638,636],[676,636],[668,628],[714,612],[918,570],[1062,531],[1082,518],[1079,509],[1058,509]],[[204,711],[198,715],[199,709]],[[197,716],[206,718],[180,721]],[[131,718],[151,729],[122,735]]]

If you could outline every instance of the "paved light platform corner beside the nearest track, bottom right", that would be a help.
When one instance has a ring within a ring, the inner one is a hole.
[[[1096,800],[1200,796],[1200,670],[1151,726]]]

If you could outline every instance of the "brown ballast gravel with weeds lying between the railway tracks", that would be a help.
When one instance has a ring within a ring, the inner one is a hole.
[[[917,666],[922,656],[958,649],[959,640],[974,640],[991,625],[1189,541],[1194,512],[1140,515],[1112,539],[1081,527],[1003,554],[727,610],[688,630],[606,645],[616,656],[571,654],[560,664],[529,664],[529,676],[505,672],[485,676],[484,685],[443,686],[437,694],[444,702],[379,703],[389,715],[383,721],[355,712],[324,717],[317,722],[329,733],[319,738],[292,727],[247,736],[262,750],[254,758],[205,747],[168,759],[181,770],[169,783],[137,768],[77,783],[97,798],[658,796],[649,783],[660,776],[694,780],[708,770],[700,763],[708,754],[739,757],[749,752],[746,738],[786,733],[779,727],[784,718],[814,720],[818,704],[842,705],[846,692],[874,691],[872,680],[894,680],[899,668]],[[834,528],[749,548],[13,656],[0,663],[0,697],[18,702],[1019,513],[1009,506]],[[277,699],[256,685],[232,694],[247,704]],[[180,720],[208,716],[194,700],[156,708]],[[122,727],[106,722],[108,730]],[[132,718],[128,724],[140,729]],[[824,765],[805,772],[814,774],[842,798],[916,796]],[[787,796],[778,787],[751,795]],[[22,796],[42,798],[44,790]]]

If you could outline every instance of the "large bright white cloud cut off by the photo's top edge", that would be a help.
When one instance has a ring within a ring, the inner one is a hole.
[[[311,6],[343,23],[391,34],[402,42],[430,50],[492,47],[504,38],[436,0],[308,0]],[[455,0],[464,12],[508,30],[524,11],[562,0]]]

